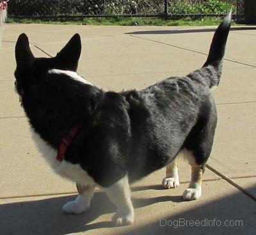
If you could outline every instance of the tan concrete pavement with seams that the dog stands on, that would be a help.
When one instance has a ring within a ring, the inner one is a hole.
[[[79,73],[107,90],[141,89],[204,64],[216,27],[54,26],[6,24],[0,77],[0,235],[255,234],[256,30],[233,27],[220,86],[218,127],[202,197],[184,202],[190,167],[180,162],[178,188],[163,190],[164,169],[132,185],[135,222],[112,227],[115,206],[96,190],[81,215],[61,213],[74,183],[40,157],[13,90],[15,43],[26,33],[36,57],[55,56],[74,33],[83,49]]]

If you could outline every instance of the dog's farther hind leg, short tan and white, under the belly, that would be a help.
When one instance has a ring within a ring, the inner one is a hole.
[[[166,177],[163,179],[162,185],[164,188],[176,188],[180,185],[178,174],[178,158],[174,158],[166,167]]]

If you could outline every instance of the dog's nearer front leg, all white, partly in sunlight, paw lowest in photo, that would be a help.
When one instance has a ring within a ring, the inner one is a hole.
[[[113,224],[117,226],[132,224],[134,211],[127,174],[109,188],[104,188],[104,190],[117,208],[116,214],[112,218]]]

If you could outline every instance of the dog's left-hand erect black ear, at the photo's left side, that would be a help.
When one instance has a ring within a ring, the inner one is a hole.
[[[28,42],[28,36],[24,33],[20,34],[16,47],[15,57],[17,62],[17,68],[24,68],[30,66],[35,57],[33,56]]]

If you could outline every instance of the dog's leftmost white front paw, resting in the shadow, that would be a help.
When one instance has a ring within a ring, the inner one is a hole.
[[[78,196],[75,201],[67,202],[62,208],[64,213],[79,214],[90,208],[88,203],[83,197]]]

